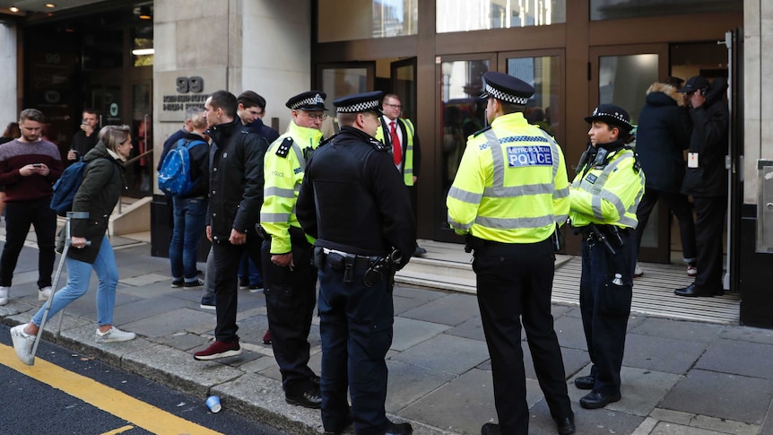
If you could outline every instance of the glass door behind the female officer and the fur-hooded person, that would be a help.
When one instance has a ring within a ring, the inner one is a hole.
[[[668,45],[594,47],[590,49],[589,58],[587,113],[599,104],[614,103],[628,110],[631,124],[637,126],[647,88],[668,76]],[[671,220],[668,209],[661,202],[649,216],[638,259],[656,263],[671,261]]]

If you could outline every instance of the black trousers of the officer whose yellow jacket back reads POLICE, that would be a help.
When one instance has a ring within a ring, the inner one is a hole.
[[[529,431],[521,319],[552,417],[573,415],[551,314],[554,263],[550,239],[529,245],[486,244],[475,249],[478,306],[491,355],[494,401],[502,433]]]

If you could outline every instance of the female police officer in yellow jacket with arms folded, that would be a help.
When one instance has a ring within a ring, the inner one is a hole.
[[[580,405],[596,409],[621,399],[620,369],[637,250],[632,231],[644,173],[626,146],[633,126],[625,109],[602,104],[585,120],[591,125],[591,144],[569,189],[569,220],[585,236],[580,311],[593,366],[589,376],[575,379],[575,386],[591,390]]]

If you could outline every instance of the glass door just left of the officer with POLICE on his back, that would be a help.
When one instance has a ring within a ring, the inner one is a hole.
[[[486,126],[486,104],[478,97],[483,87],[483,74],[492,70],[496,54],[456,57],[437,57],[435,74],[439,83],[440,116],[435,121],[435,149],[433,152],[435,176],[436,240],[461,243],[448,226],[446,196],[456,177],[456,170],[465,152],[467,136]],[[424,147],[429,153],[431,148]],[[429,156],[427,157],[429,158]]]

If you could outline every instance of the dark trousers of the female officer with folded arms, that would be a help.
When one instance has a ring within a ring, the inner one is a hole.
[[[604,395],[620,393],[620,370],[625,352],[630,300],[633,296],[633,269],[636,244],[633,237],[620,233],[622,246],[611,241],[614,256],[593,239],[582,243],[580,313],[587,352],[593,363],[594,391]],[[615,274],[620,274],[619,281]]]

